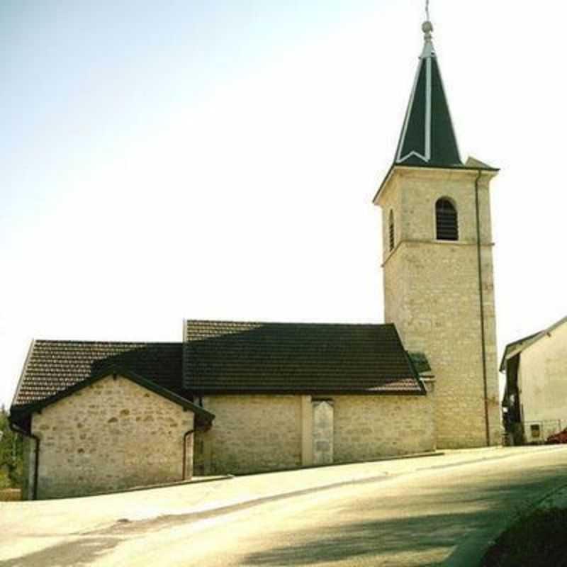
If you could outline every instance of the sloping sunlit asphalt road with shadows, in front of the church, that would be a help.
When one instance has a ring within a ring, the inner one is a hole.
[[[517,512],[565,485],[565,448],[441,464],[210,517],[118,523],[0,566],[476,566]]]

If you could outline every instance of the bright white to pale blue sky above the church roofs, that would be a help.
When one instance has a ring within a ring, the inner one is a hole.
[[[421,0],[0,3],[0,403],[30,340],[184,318],[383,322],[381,215]],[[559,0],[431,0],[492,184],[499,355],[567,315]]]

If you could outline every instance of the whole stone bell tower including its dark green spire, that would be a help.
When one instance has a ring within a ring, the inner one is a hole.
[[[435,376],[437,447],[500,444],[490,181],[461,162],[433,26],[425,43],[382,209],[385,320]]]

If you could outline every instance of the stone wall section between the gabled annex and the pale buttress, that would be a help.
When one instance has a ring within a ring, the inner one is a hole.
[[[301,396],[206,396],[203,407],[215,414],[213,427],[196,436],[195,463],[203,472],[245,474],[301,466]]]

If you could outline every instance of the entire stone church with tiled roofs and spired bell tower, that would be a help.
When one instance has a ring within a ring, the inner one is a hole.
[[[500,444],[490,181],[461,162],[432,43],[378,186],[381,325],[186,320],[181,342],[36,340],[23,498]]]

